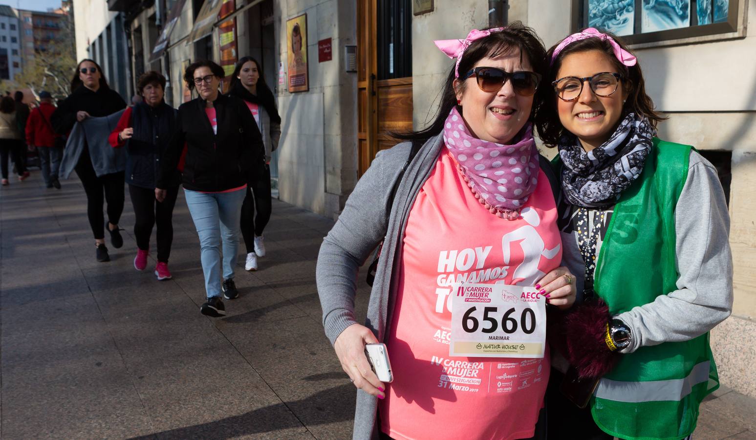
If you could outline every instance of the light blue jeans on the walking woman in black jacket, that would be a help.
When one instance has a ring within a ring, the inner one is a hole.
[[[231,193],[206,194],[184,189],[189,213],[200,236],[200,259],[207,297],[221,296],[221,240],[223,279],[234,277],[239,249],[239,220],[246,188]]]

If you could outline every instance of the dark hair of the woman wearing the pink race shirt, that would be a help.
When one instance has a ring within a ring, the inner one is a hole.
[[[519,21],[514,21],[505,27],[503,31],[491,33],[490,36],[472,42],[462,55],[459,67],[460,75],[464,75],[467,71],[472,69],[479,60],[482,60],[485,57],[499,57],[513,48],[519,49],[521,61],[522,57],[528,59],[528,62],[535,73],[540,73],[541,75],[546,73],[546,48],[544,48],[544,43],[541,42],[541,39],[538,38],[538,35],[536,35],[533,29],[525,26]],[[392,133],[392,137],[408,140],[424,140],[442,132],[449,112],[457,105],[457,95],[454,91],[454,79],[456,79],[456,76],[454,75],[454,64],[452,64],[446,82],[444,83],[444,87],[440,92],[441,103],[438,105],[438,113],[436,113],[435,118],[430,125],[418,132]],[[460,81],[461,90],[464,90],[464,87],[465,82]],[[543,82],[541,82],[541,84],[538,85],[538,88],[540,89],[543,87]],[[538,96],[538,94],[535,96]],[[536,104],[538,104],[538,101],[534,100],[531,117],[537,107]]]

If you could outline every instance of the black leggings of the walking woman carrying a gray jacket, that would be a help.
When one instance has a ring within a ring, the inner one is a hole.
[[[82,181],[84,192],[87,194],[87,217],[92,234],[95,234],[95,240],[102,240],[105,237],[105,217],[102,213],[102,206],[106,200],[108,222],[118,225],[121,219],[123,201],[125,200],[125,192],[123,191],[125,172],[113,172],[98,177],[92,167],[87,147],[82,151],[79,163],[76,163],[74,169]],[[104,199],[103,191],[105,192]]]

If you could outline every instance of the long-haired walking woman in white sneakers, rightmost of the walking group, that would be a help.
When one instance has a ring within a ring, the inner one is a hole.
[[[262,78],[256,59],[243,57],[231,75],[229,94],[241,98],[257,122],[265,144],[265,173],[257,181],[249,182],[241,206],[241,234],[246,245],[247,271],[257,270],[257,257],[265,256],[262,231],[271,219],[271,154],[278,148],[281,137],[281,117],[278,116],[273,92]],[[255,215],[257,212],[257,215]]]

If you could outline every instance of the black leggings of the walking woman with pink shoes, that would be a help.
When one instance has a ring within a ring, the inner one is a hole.
[[[155,190],[129,185],[129,196],[134,205],[134,235],[137,237],[137,247],[142,250],[150,249],[150,235],[152,227],[157,223],[157,261],[168,262],[171,256],[173,242],[173,207],[178,196],[178,186],[167,189],[166,200],[162,203],[155,200]]]

